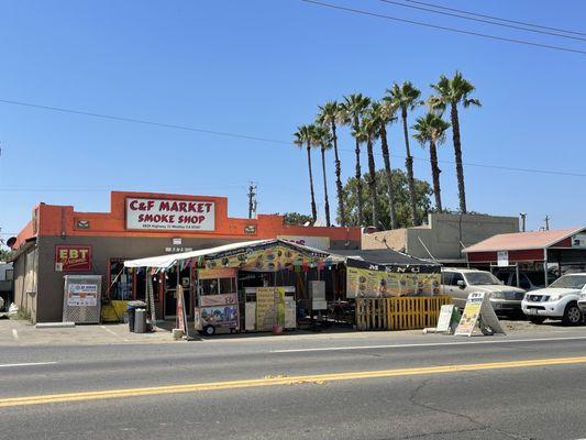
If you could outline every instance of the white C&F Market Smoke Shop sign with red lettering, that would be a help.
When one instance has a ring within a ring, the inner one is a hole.
[[[198,200],[126,198],[126,229],[213,231],[215,204]]]

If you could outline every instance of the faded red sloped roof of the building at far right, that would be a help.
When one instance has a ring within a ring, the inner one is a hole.
[[[582,228],[552,229],[549,231],[513,232],[493,235],[472,246],[464,249],[464,253],[523,251],[546,249],[585,230]]]

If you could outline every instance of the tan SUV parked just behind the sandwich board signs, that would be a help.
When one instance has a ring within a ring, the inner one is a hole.
[[[504,285],[490,272],[454,267],[442,268],[442,292],[458,308],[464,308],[471,293],[485,292],[499,315],[520,314],[526,294],[521,288]]]

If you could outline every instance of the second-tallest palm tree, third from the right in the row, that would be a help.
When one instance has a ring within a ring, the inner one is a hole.
[[[418,224],[417,219],[417,201],[416,201],[416,183],[413,177],[413,157],[411,156],[411,148],[409,147],[409,130],[407,129],[407,113],[421,106],[423,101],[419,98],[421,91],[417,89],[410,81],[403,81],[400,86],[394,82],[390,89],[387,89],[388,96],[384,99],[391,106],[401,110],[402,131],[405,135],[405,150],[407,157],[405,158],[405,167],[407,168],[407,183],[409,188],[409,208],[411,210],[411,222],[413,226]]]

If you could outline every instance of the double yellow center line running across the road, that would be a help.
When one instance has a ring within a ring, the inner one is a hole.
[[[161,394],[197,393],[197,392],[208,392],[208,391],[250,388],[250,387],[263,387],[263,386],[275,386],[275,385],[295,385],[299,383],[327,383],[327,382],[333,382],[333,381],[356,381],[356,380],[365,380],[365,378],[416,376],[416,375],[457,373],[457,372],[469,372],[469,371],[482,371],[482,370],[528,369],[528,367],[568,365],[568,364],[586,364],[586,356],[535,359],[535,360],[508,361],[508,362],[487,362],[487,363],[479,363],[479,364],[455,364],[455,365],[453,364],[453,365],[424,366],[424,367],[396,369],[396,370],[313,374],[313,375],[305,375],[305,376],[265,377],[265,378],[240,380],[240,381],[228,381],[228,382],[209,382],[209,383],[195,383],[195,384],[185,384],[185,385],[152,386],[152,387],[144,387],[144,388],[120,388],[120,389],[104,389],[104,391],[97,391],[97,392],[79,392],[79,393],[62,393],[62,394],[48,394],[48,395],[24,396],[24,397],[9,397],[9,398],[0,399],[0,408],[15,407],[15,406],[22,406],[22,405],[43,405],[43,404],[98,400],[98,399],[109,399],[109,398],[154,396],[154,395],[161,395]]]

